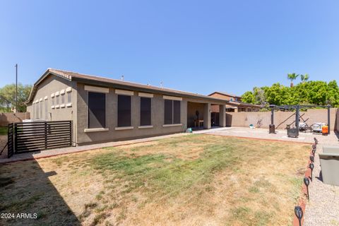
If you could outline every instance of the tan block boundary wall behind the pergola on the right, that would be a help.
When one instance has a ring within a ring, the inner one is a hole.
[[[300,112],[302,119],[311,126],[315,122],[327,124],[327,109],[308,109],[307,112]],[[331,130],[339,129],[338,109],[332,108],[330,111]],[[295,112],[274,112],[275,129],[285,129],[287,124],[295,124]],[[270,112],[227,112],[227,126],[248,127],[253,124],[257,128],[268,128],[270,125]]]

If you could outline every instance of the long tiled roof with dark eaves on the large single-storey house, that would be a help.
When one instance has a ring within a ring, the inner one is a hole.
[[[25,102],[28,104],[32,101],[35,92],[37,91],[37,86],[44,81],[45,78],[49,75],[59,76],[61,78],[65,78],[69,81],[79,81],[82,83],[90,83],[95,85],[101,85],[101,86],[111,86],[114,85],[115,88],[121,88],[121,89],[130,89],[130,90],[140,90],[150,93],[161,93],[165,95],[179,95],[180,97],[191,97],[191,98],[199,98],[204,100],[210,100],[215,102],[220,102],[220,104],[225,104],[228,102],[228,100],[222,100],[220,98],[215,97],[209,97],[206,95],[201,95],[197,93],[189,93],[184,92],[180,90],[172,90],[169,88],[160,88],[153,85],[143,85],[140,83],[132,83],[127,81],[121,81],[118,79],[113,78],[105,78],[105,77],[99,77],[99,76],[91,76],[86,75],[83,73],[76,73],[72,71],[63,71],[58,69],[47,69],[47,71],[37,80],[36,83],[34,83],[33,88],[30,92],[30,96],[28,97],[28,100]]]

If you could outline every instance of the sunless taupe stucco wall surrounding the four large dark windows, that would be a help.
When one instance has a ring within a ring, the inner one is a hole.
[[[117,128],[117,94],[114,88],[109,88],[106,94],[106,128],[108,131],[85,132],[88,126],[88,91],[84,84],[78,83],[78,123],[77,142],[79,144],[105,141],[118,141],[131,138],[157,136],[169,133],[180,133],[187,128],[187,100],[183,99],[180,106],[180,126],[164,127],[165,102],[162,95],[154,94],[151,98],[151,124],[153,128],[139,129],[140,126],[140,97],[138,92],[131,96],[131,126],[133,129],[116,130]]]

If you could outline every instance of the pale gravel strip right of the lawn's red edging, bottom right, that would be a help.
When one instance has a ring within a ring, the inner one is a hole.
[[[317,153],[322,152],[322,149],[322,145],[318,145]],[[339,226],[339,186],[323,184],[319,178],[321,167],[317,153],[314,160],[313,182],[309,185],[310,201],[306,204],[304,225]]]

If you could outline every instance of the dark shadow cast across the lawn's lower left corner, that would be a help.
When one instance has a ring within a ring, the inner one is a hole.
[[[37,161],[0,165],[0,225],[81,225]],[[10,215],[9,215],[10,214]]]

